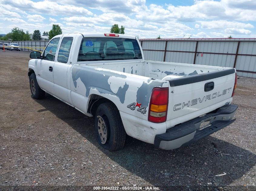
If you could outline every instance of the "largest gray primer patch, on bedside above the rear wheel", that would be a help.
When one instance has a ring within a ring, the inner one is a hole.
[[[129,85],[126,84],[123,88],[119,87],[117,93],[113,93],[108,84],[108,78],[114,76],[118,78],[127,78],[126,75],[117,74],[115,72],[96,70],[95,67],[85,65],[74,65],[72,68],[72,79],[73,81],[78,78],[81,79],[86,88],[86,97],[89,96],[90,89],[95,88],[101,94],[111,94],[119,98],[121,103],[125,101],[125,94],[128,90]]]

